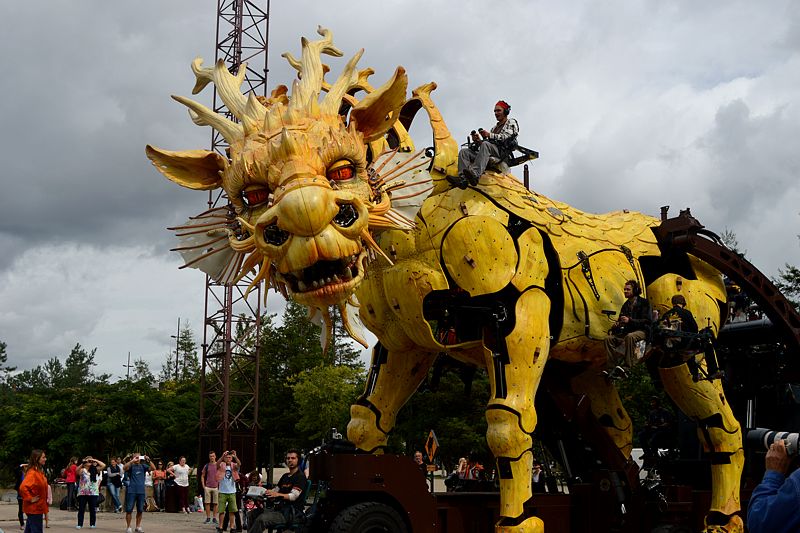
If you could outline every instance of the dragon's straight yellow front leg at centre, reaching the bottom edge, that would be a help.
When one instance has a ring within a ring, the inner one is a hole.
[[[486,349],[491,398],[486,410],[487,441],[500,477],[500,521],[495,533],[543,533],[544,524],[526,516],[532,497],[534,397],[550,349],[550,299],[541,288],[524,292],[516,302],[514,329]]]

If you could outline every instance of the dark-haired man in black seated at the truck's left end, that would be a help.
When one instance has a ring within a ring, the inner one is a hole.
[[[263,533],[269,528],[291,524],[295,516],[303,513],[303,492],[306,476],[300,470],[300,452],[294,448],[286,452],[287,473],[278,480],[277,489],[264,494],[274,503],[273,509],[265,509],[255,520],[248,520],[247,533]]]

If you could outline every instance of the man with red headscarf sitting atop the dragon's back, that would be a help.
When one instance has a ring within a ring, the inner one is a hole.
[[[458,176],[447,176],[447,181],[460,189],[477,185],[490,158],[503,160],[508,156],[519,134],[519,124],[508,117],[510,113],[508,102],[500,100],[494,105],[497,124],[491,130],[479,128],[470,133],[472,142],[458,152]]]

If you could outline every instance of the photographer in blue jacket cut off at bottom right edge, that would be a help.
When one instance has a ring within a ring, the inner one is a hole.
[[[750,533],[800,531],[800,469],[786,477],[793,459],[783,440],[770,444],[764,479],[753,490],[747,507]]]

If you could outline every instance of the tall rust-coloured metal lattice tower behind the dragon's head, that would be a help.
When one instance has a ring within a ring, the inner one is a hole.
[[[247,63],[245,95],[267,94],[268,35],[269,0],[218,0],[216,60],[225,61],[233,73]],[[236,120],[216,88],[213,109]],[[226,155],[228,146],[216,130],[211,148]],[[209,209],[228,204],[224,192],[209,193]],[[224,285],[206,276],[198,464],[205,463],[209,450],[234,449],[245,468],[256,465],[262,293],[259,287],[244,297],[251,281],[248,275]]]

